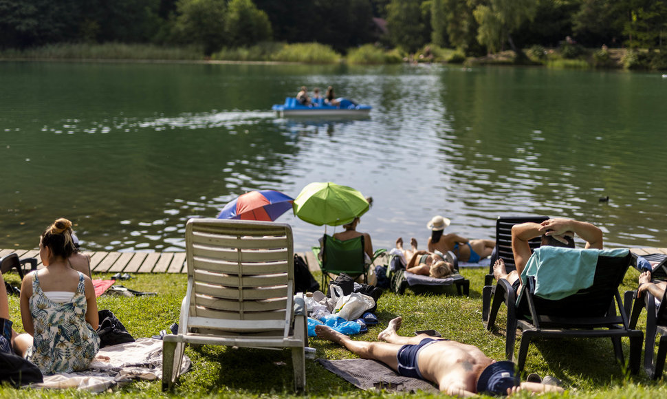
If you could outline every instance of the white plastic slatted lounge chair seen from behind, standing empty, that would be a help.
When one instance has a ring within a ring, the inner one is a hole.
[[[303,389],[308,336],[305,315],[294,312],[292,228],[190,219],[186,253],[188,291],[178,334],[164,336],[162,389],[178,377],[187,343],[292,348],[294,382]]]

